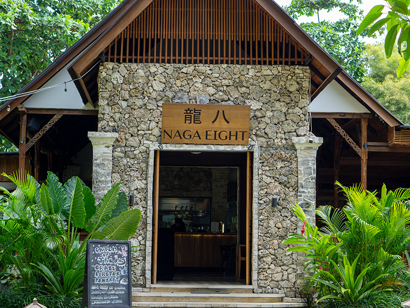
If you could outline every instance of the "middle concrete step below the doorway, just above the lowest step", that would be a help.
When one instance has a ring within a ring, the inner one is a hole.
[[[229,293],[223,290],[196,290],[193,292],[139,292],[132,294],[133,302],[223,302],[223,303],[273,303],[280,302],[284,294]]]

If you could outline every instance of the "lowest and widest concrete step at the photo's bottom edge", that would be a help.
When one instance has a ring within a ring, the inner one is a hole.
[[[295,308],[305,307],[304,303],[288,303],[288,302],[273,302],[273,303],[247,303],[247,302],[133,302],[133,308],[159,308],[159,307],[191,307],[191,308],[209,308],[209,307],[236,307],[236,308]]]

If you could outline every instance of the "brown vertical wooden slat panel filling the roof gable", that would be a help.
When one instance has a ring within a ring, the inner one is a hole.
[[[154,0],[109,62],[303,65],[308,53],[253,0]]]

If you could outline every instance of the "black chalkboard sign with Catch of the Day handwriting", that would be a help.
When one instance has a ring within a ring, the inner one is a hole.
[[[131,308],[131,242],[87,241],[88,308]]]

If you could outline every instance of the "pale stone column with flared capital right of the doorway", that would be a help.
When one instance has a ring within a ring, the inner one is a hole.
[[[320,137],[293,137],[298,157],[298,204],[303,209],[309,223],[316,225],[316,151],[323,143]],[[311,142],[309,142],[311,141]],[[299,233],[302,222],[298,221]],[[298,253],[296,261],[296,286],[300,287],[303,277],[307,275],[303,271],[303,254]]]

